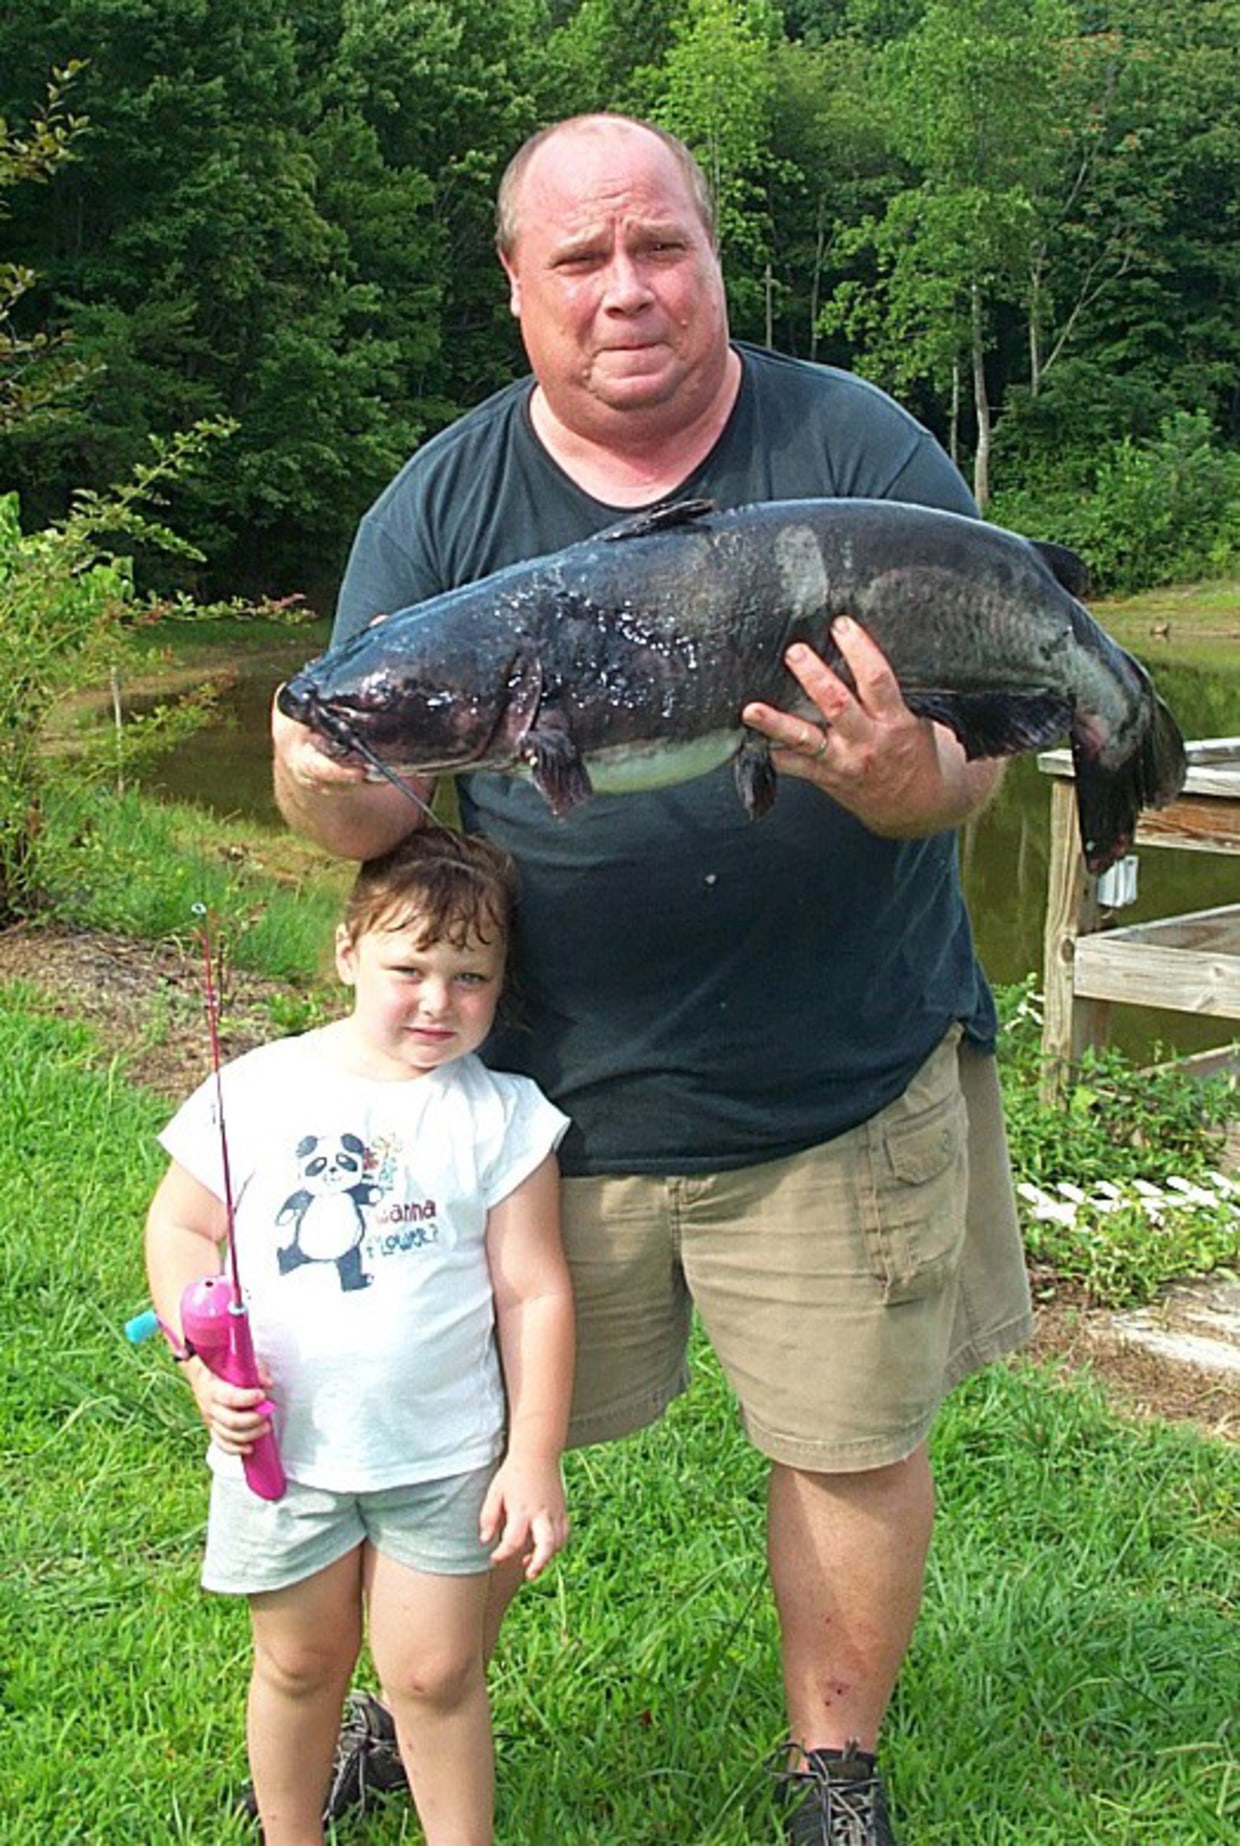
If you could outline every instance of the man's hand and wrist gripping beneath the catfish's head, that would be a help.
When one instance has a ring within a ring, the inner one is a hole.
[[[362,764],[319,749],[314,733],[271,707],[273,788],[280,814],[306,840],[340,858],[376,858],[423,825],[391,783],[367,781]],[[430,803],[434,783],[410,785]]]

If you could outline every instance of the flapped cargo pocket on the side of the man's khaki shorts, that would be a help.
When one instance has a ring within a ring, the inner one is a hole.
[[[948,1093],[915,1115],[900,1098],[871,1122],[871,1253],[891,1307],[936,1294],[965,1242],[969,1115],[954,1043],[936,1056],[950,1061]]]

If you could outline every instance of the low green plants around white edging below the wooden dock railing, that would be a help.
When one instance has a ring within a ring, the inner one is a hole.
[[[1031,982],[998,995],[1000,1076],[1017,1180],[1048,1194],[1067,1181],[1076,1209],[1039,1217],[1022,1204],[1035,1263],[1085,1289],[1091,1300],[1137,1305],[1179,1276],[1234,1266],[1240,1257],[1240,1196],[1210,1180],[1225,1124],[1240,1113],[1234,1078],[1194,1080],[1168,1063],[1139,1069],[1118,1050],[1091,1050],[1063,1102],[1039,1097],[1041,1015]],[[1166,1181],[1209,1181],[1183,1205]],[[1153,1187],[1157,1209],[1142,1200]],[[1107,1189],[1115,1189],[1109,1196]],[[1205,1202],[1205,1194],[1212,1204]]]

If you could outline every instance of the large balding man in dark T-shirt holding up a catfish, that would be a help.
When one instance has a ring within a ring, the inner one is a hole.
[[[498,249],[533,377],[380,495],[338,641],[668,498],[976,511],[880,391],[729,340],[709,194],[672,137],[624,116],[533,137]],[[559,821],[511,777],[458,788],[522,869],[531,1030],[495,1061],[574,1122],[574,1440],[685,1388],[696,1303],[771,1458],[788,1840],[895,1846],[875,1750],[921,1599],[926,1434],[965,1372],[1028,1335],[1030,1303],[952,834],[1000,772],[908,711],[862,629],[836,639],[854,692],[808,648],[788,659],[821,724],[745,707],[781,772],[758,823],[727,770]],[[275,742],[286,818],[330,851],[410,829],[400,790],[280,716]]]

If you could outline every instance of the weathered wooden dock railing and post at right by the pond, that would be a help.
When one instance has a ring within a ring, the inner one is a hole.
[[[1054,1102],[1081,1052],[1105,1043],[1113,1004],[1240,1019],[1240,866],[1234,905],[1103,927],[1098,879],[1081,857],[1072,753],[1044,751],[1037,766],[1052,777],[1043,1095]],[[1135,844],[1240,857],[1240,737],[1188,744],[1183,794],[1140,816]],[[1214,1056],[1222,1065],[1231,1049]],[[1194,1060],[1198,1069],[1209,1061],[1209,1052]]]

